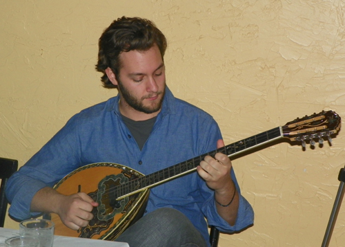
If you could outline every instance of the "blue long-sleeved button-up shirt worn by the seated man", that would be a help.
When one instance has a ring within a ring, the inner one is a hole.
[[[10,215],[27,219],[34,194],[53,186],[73,170],[99,162],[119,163],[143,174],[181,163],[217,148],[221,138],[219,127],[208,113],[174,98],[168,88],[152,132],[143,149],[139,149],[119,113],[119,95],[84,109],[70,118],[37,154],[8,181],[6,195]],[[240,193],[233,170],[231,176]],[[233,232],[253,223],[253,209],[239,196],[239,212],[235,226],[219,217],[214,192],[197,172],[153,187],[146,208],[175,208],[193,222],[208,242],[208,224]]]

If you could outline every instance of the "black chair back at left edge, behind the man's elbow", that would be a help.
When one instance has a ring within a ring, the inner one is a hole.
[[[5,196],[5,187],[10,176],[18,169],[18,161],[10,158],[0,158],[0,227],[5,222],[8,201]]]

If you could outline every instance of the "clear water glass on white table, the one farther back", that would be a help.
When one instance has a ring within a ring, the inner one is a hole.
[[[54,227],[48,219],[27,219],[19,224],[19,235],[38,237],[39,247],[52,247]]]

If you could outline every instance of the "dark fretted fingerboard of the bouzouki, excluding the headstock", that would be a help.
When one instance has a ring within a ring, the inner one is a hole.
[[[176,179],[179,176],[184,176],[190,172],[194,172],[199,163],[208,155],[214,157],[215,154],[220,152],[230,157],[282,137],[282,127],[276,127],[244,140],[239,140],[238,142],[225,147],[215,149],[213,152],[208,152],[207,154],[190,158],[188,161],[166,167],[165,169],[153,172],[152,174],[141,176],[138,179],[118,185],[116,187],[117,199],[123,199],[124,197],[135,194],[141,190],[154,187],[161,183],[166,183],[167,181]]]

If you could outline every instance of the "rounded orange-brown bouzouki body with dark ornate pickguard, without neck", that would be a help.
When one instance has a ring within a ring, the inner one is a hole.
[[[88,226],[72,230],[62,223],[57,214],[44,217],[50,218],[55,223],[55,235],[116,239],[144,214],[149,190],[142,190],[117,201],[118,196],[113,188],[141,176],[144,174],[116,163],[94,163],[80,167],[61,179],[54,188],[57,192],[66,195],[86,192],[99,203],[98,207],[92,210],[94,217]]]

